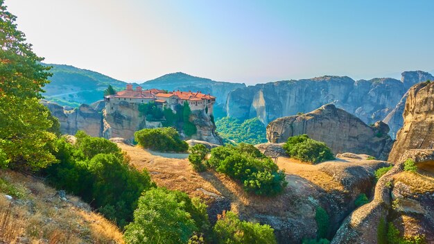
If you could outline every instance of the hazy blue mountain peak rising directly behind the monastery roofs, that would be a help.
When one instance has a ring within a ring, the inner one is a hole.
[[[190,76],[186,73],[168,73],[154,80],[148,80],[141,84],[144,89],[165,89],[168,91],[200,91],[205,94],[216,96],[216,103],[224,104],[227,94],[234,89],[244,88],[245,84],[214,81],[207,78]]]

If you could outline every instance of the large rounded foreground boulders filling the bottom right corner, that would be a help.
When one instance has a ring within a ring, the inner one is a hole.
[[[434,150],[403,153],[397,164],[377,182],[373,200],[345,219],[332,244],[361,243],[361,240],[379,243],[386,238],[388,222],[405,236],[424,236],[426,243],[434,242],[434,179],[432,175],[421,177],[417,173],[403,172],[403,162],[408,158],[417,166],[434,166]],[[425,188],[421,189],[421,181]]]

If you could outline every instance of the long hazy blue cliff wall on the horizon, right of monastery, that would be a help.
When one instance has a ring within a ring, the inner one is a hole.
[[[347,76],[322,76],[269,82],[229,92],[226,111],[228,116],[238,119],[258,117],[267,124],[282,116],[309,112],[333,103],[370,124],[385,119],[408,87],[428,79],[433,79],[429,73],[410,71],[402,73],[401,81],[392,78],[354,81]]]

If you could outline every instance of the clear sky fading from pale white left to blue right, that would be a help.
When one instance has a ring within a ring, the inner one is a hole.
[[[434,69],[434,1],[6,0],[38,55],[125,81]]]

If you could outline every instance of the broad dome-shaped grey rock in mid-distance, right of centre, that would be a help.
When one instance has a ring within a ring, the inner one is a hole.
[[[267,139],[283,143],[288,137],[307,134],[311,139],[326,143],[335,154],[360,153],[387,159],[393,143],[388,132],[388,125],[381,121],[371,127],[329,104],[307,114],[272,121],[267,126]]]

